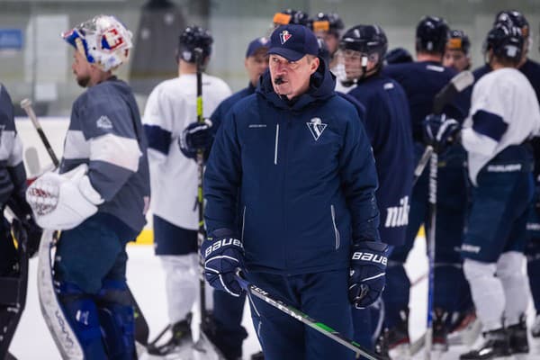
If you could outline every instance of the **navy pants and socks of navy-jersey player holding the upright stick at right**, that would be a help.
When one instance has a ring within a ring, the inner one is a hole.
[[[421,148],[417,148],[417,161],[419,155],[421,155]],[[410,280],[403,264],[409,256],[422,224],[425,225],[426,234],[428,234],[428,167],[426,166],[413,188],[405,245],[395,247],[389,257],[386,287],[383,293],[385,324],[388,328],[394,327],[401,320],[400,311],[409,307]],[[450,148],[439,157],[437,178],[434,306],[452,312],[458,311],[463,306],[458,302],[461,296],[456,296],[456,294],[463,293],[463,296],[466,296],[469,293],[459,254],[459,247],[464,238],[464,220],[467,209],[463,148]],[[437,279],[445,279],[445,281],[437,282]]]

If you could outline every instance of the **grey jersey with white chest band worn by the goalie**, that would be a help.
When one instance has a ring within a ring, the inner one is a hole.
[[[147,142],[130,87],[112,77],[73,104],[60,173],[88,164],[88,177],[110,214],[139,232],[149,202]]]

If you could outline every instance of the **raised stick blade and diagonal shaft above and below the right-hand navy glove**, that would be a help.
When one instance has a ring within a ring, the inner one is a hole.
[[[462,71],[456,76],[452,77],[448,84],[445,85],[433,99],[433,113],[440,114],[443,112],[446,104],[451,103],[457,94],[460,94],[464,89],[469,85],[473,85],[474,76],[473,73],[469,70]],[[420,175],[424,172],[424,168],[428,165],[429,157],[433,152],[431,146],[427,146],[422,154],[422,157],[419,159],[418,165],[414,169],[414,179],[412,185],[416,184],[419,180]]]

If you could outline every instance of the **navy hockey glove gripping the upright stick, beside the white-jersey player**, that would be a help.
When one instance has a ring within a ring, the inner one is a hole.
[[[429,114],[424,119],[423,126],[424,142],[431,145],[437,154],[441,154],[459,140],[461,125],[454,119],[447,119],[445,114]]]

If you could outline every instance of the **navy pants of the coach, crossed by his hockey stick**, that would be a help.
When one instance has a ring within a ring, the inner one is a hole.
[[[347,298],[348,269],[306,275],[246,274],[247,280],[315,320],[353,336]],[[275,307],[249,296],[253,325],[265,360],[353,359],[355,354]]]

